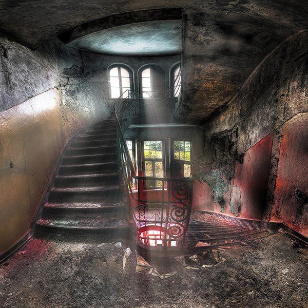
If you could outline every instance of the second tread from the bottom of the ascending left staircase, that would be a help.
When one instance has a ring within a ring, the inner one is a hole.
[[[46,202],[44,207],[46,208],[59,208],[59,209],[104,209],[104,208],[122,208],[124,202]]]

